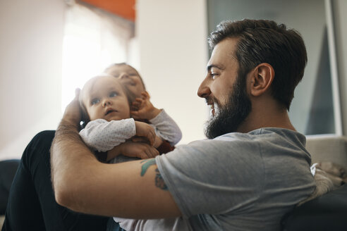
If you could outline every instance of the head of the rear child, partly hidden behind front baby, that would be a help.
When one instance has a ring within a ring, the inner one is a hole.
[[[104,70],[104,73],[118,78],[136,97],[146,90],[138,71],[127,63],[114,63]]]

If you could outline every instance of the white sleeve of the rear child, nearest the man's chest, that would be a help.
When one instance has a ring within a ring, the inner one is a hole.
[[[181,129],[175,121],[162,109],[158,116],[152,118],[150,123],[156,128],[157,135],[169,142],[172,146],[182,138]]]

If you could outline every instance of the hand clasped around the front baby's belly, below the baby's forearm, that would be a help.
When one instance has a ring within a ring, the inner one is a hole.
[[[159,155],[159,151],[149,144],[142,142],[132,142],[127,141],[120,144],[114,149],[107,152],[107,160],[118,156],[118,154],[123,154],[123,156],[137,157],[137,158],[154,158]]]

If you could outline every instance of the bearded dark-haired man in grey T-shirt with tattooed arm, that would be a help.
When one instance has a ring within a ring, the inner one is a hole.
[[[51,147],[56,201],[73,211],[154,219],[193,230],[279,230],[315,189],[305,137],[287,110],[307,62],[298,32],[267,20],[224,22],[197,94],[209,139],[147,161],[99,163],[78,135],[77,98]],[[77,94],[78,95],[78,94]]]

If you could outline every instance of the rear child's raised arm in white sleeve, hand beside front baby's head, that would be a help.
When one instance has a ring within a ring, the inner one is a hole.
[[[182,132],[175,121],[164,111],[153,106],[148,92],[142,92],[142,98],[137,98],[131,111],[135,119],[147,119],[156,128],[157,135],[172,146],[182,138]]]

